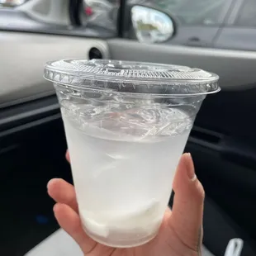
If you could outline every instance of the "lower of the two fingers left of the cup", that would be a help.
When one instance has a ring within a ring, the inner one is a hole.
[[[97,243],[83,231],[77,212],[60,203],[55,204],[54,212],[59,225],[76,241],[83,254],[88,255],[96,248]]]

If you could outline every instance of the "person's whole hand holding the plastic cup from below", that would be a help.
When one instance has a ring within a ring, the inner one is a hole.
[[[68,161],[69,153],[66,154]],[[159,234],[148,244],[117,249],[98,244],[83,230],[74,187],[63,179],[48,183],[56,204],[55,218],[88,256],[198,256],[201,255],[204,190],[195,175],[192,157],[183,154],[173,181],[173,211],[164,215]]]

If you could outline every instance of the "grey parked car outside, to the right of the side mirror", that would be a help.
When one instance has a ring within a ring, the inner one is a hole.
[[[179,31],[171,44],[256,50],[254,0],[173,0],[159,6],[177,17]]]

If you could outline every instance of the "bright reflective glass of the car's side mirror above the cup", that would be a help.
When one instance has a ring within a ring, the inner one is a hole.
[[[135,36],[142,43],[162,43],[176,32],[176,22],[167,13],[152,7],[134,5],[130,19]]]

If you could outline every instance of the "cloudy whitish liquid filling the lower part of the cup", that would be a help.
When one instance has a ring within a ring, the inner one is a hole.
[[[63,118],[84,230],[114,247],[154,238],[190,130],[135,136],[127,129],[121,136],[109,123],[104,128],[81,126],[65,110]]]

